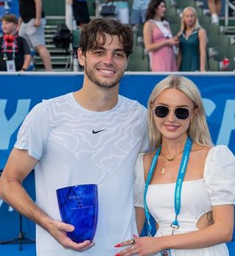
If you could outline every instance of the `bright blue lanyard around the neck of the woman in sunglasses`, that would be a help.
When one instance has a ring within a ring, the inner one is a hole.
[[[145,207],[145,216],[146,216],[147,224],[148,224],[148,236],[151,236],[152,227],[151,227],[151,223],[150,223],[150,214],[148,212],[148,206],[147,206],[147,202],[146,202],[146,195],[147,195],[147,191],[148,191],[148,185],[151,182],[153,171],[154,171],[155,166],[156,166],[156,162],[157,162],[159,154],[161,152],[161,148],[162,147],[159,146],[159,149],[157,149],[156,153],[153,156],[153,160],[152,160],[152,163],[151,163],[151,168],[150,168],[150,171],[148,172],[148,177],[147,177],[147,180],[145,182],[144,207]],[[176,180],[176,189],[175,189],[176,219],[170,225],[170,227],[173,228],[173,232],[174,232],[174,230],[178,229],[178,227],[179,227],[177,217],[178,217],[178,214],[179,214],[180,209],[181,209],[181,188],[182,188],[183,181],[184,181],[184,175],[185,175],[186,169],[187,169],[187,164],[189,162],[189,154],[191,152],[191,148],[192,148],[192,140],[188,137],[187,141],[184,145],[184,152],[183,152],[183,156],[182,156],[182,159],[181,159],[181,166],[178,170],[178,177],[177,177],[177,180]]]

